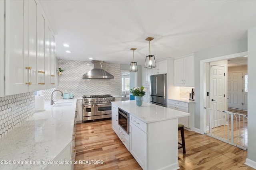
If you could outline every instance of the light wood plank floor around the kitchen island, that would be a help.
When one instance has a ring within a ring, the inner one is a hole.
[[[76,160],[104,163],[76,164],[75,170],[142,169],[112,130],[111,119],[77,124],[76,128]],[[178,150],[180,170],[254,170],[244,164],[245,150],[194,131],[184,132],[186,155]],[[180,132],[178,138],[181,140]]]

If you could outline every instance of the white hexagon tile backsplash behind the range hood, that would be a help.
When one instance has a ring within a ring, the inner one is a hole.
[[[83,79],[83,74],[94,67],[92,62],[59,60],[58,66],[65,69],[62,75],[58,76],[58,90],[63,93],[74,93],[75,97],[101,94],[121,95],[120,64],[102,63],[102,68],[112,74],[113,79]]]

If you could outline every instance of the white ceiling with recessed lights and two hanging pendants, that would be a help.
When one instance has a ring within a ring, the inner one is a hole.
[[[247,38],[256,27],[256,0],[41,0],[60,59],[138,65]],[[64,47],[68,43],[70,47]],[[72,53],[66,53],[66,50]]]

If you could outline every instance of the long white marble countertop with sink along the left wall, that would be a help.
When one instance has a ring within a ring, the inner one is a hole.
[[[35,113],[0,138],[0,160],[10,161],[10,164],[0,164],[0,169],[44,169],[48,161],[53,160],[72,141],[76,100],[59,99],[56,102],[70,102],[71,106],[47,104],[45,111]],[[28,164],[24,164],[26,162]]]

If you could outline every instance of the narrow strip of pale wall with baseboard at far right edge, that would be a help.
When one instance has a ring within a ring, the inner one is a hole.
[[[256,168],[256,27],[248,29],[248,154],[246,164]]]

